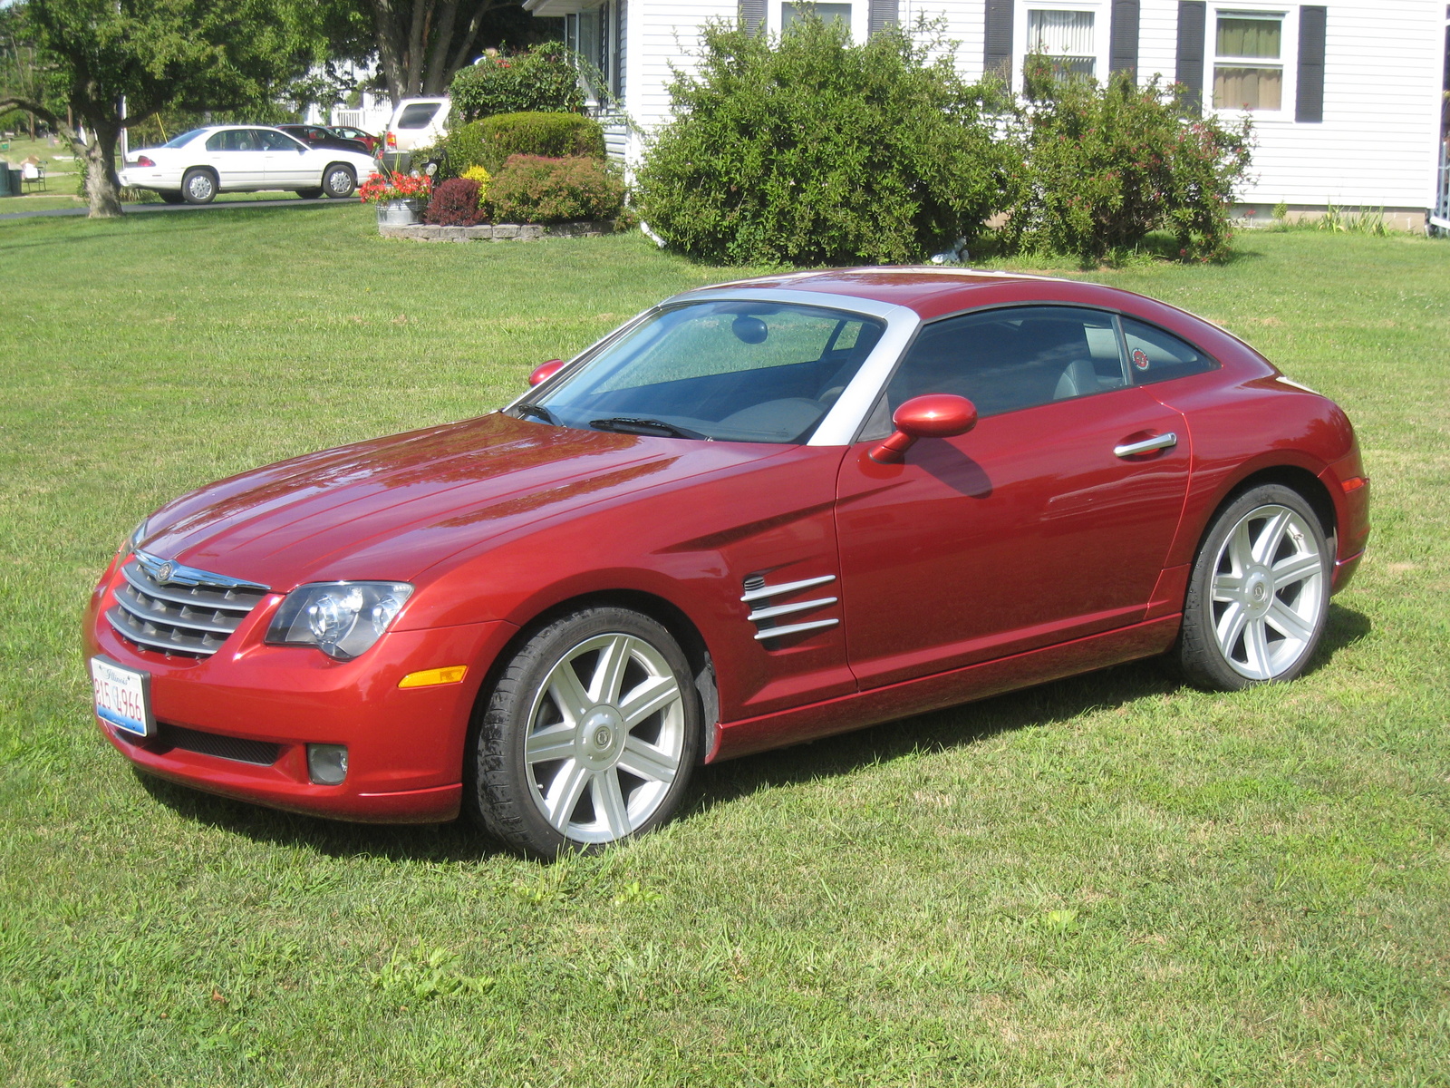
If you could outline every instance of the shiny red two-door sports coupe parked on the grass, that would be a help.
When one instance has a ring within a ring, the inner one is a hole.
[[[86,617],[106,737],[551,856],[667,820],[696,763],[1118,662],[1288,680],[1369,534],[1338,406],[1086,283],[705,287],[531,383],[146,518]]]

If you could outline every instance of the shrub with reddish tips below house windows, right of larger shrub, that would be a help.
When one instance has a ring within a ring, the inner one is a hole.
[[[1172,231],[1185,260],[1218,258],[1248,170],[1248,122],[1192,118],[1179,93],[1128,73],[1106,86],[1027,67],[1027,171],[1002,231],[1016,251],[1101,260]]]

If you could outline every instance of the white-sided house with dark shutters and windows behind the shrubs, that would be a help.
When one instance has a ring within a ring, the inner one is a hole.
[[[1122,68],[1140,81],[1183,83],[1205,110],[1254,119],[1254,177],[1244,203],[1263,222],[1275,205],[1385,209],[1422,229],[1444,202],[1444,0],[831,0],[858,39],[889,22],[942,16],[967,78],[983,71],[1021,86],[1028,52],[1051,54],[1098,78]],[[564,16],[568,44],[603,73],[634,122],[612,149],[638,161],[642,138],[668,119],[667,84],[689,71],[699,30],[744,19],[777,32],[792,0],[525,0]],[[1437,176],[1437,171],[1441,171]],[[1437,197],[1438,193],[1438,197]],[[1438,213],[1450,216],[1450,207]]]

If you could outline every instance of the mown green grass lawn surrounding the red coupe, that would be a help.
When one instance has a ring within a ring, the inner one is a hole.
[[[738,274],[371,219],[0,229],[0,1082],[1450,1084],[1450,244],[1093,276],[1359,425],[1372,554],[1308,676],[1144,663],[725,763],[545,866],[145,782],[91,718],[81,608],[162,500],[487,411]]]

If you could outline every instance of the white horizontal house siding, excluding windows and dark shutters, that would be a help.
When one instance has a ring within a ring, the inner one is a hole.
[[[642,133],[668,119],[674,70],[690,71],[700,28],[735,19],[737,0],[629,0],[625,104],[637,125],[629,158],[642,154]],[[768,0],[776,4],[777,0]],[[869,3],[869,0],[857,0]],[[1030,0],[1015,0],[1027,9]],[[1098,13],[1098,33],[1111,28],[1112,0],[1083,0]],[[1224,4],[1228,6],[1228,4]],[[1322,122],[1296,122],[1299,4],[1234,4],[1244,10],[1285,9],[1285,113],[1254,119],[1253,176],[1246,203],[1269,206],[1427,209],[1438,162],[1440,96],[1444,67],[1443,0],[1328,0],[1325,12]],[[767,10],[776,10],[768,9]],[[966,78],[979,78],[986,49],[987,0],[900,0],[900,20],[941,19],[957,42]],[[1204,107],[1212,106],[1215,0],[1208,3]],[[1138,4],[1137,74],[1163,86],[1177,71],[1177,0]],[[1018,20],[1021,23],[1021,17]],[[1106,42],[1106,38],[1103,38]],[[1022,42],[1014,42],[1021,54]],[[1108,51],[1102,49],[1102,70]]]

